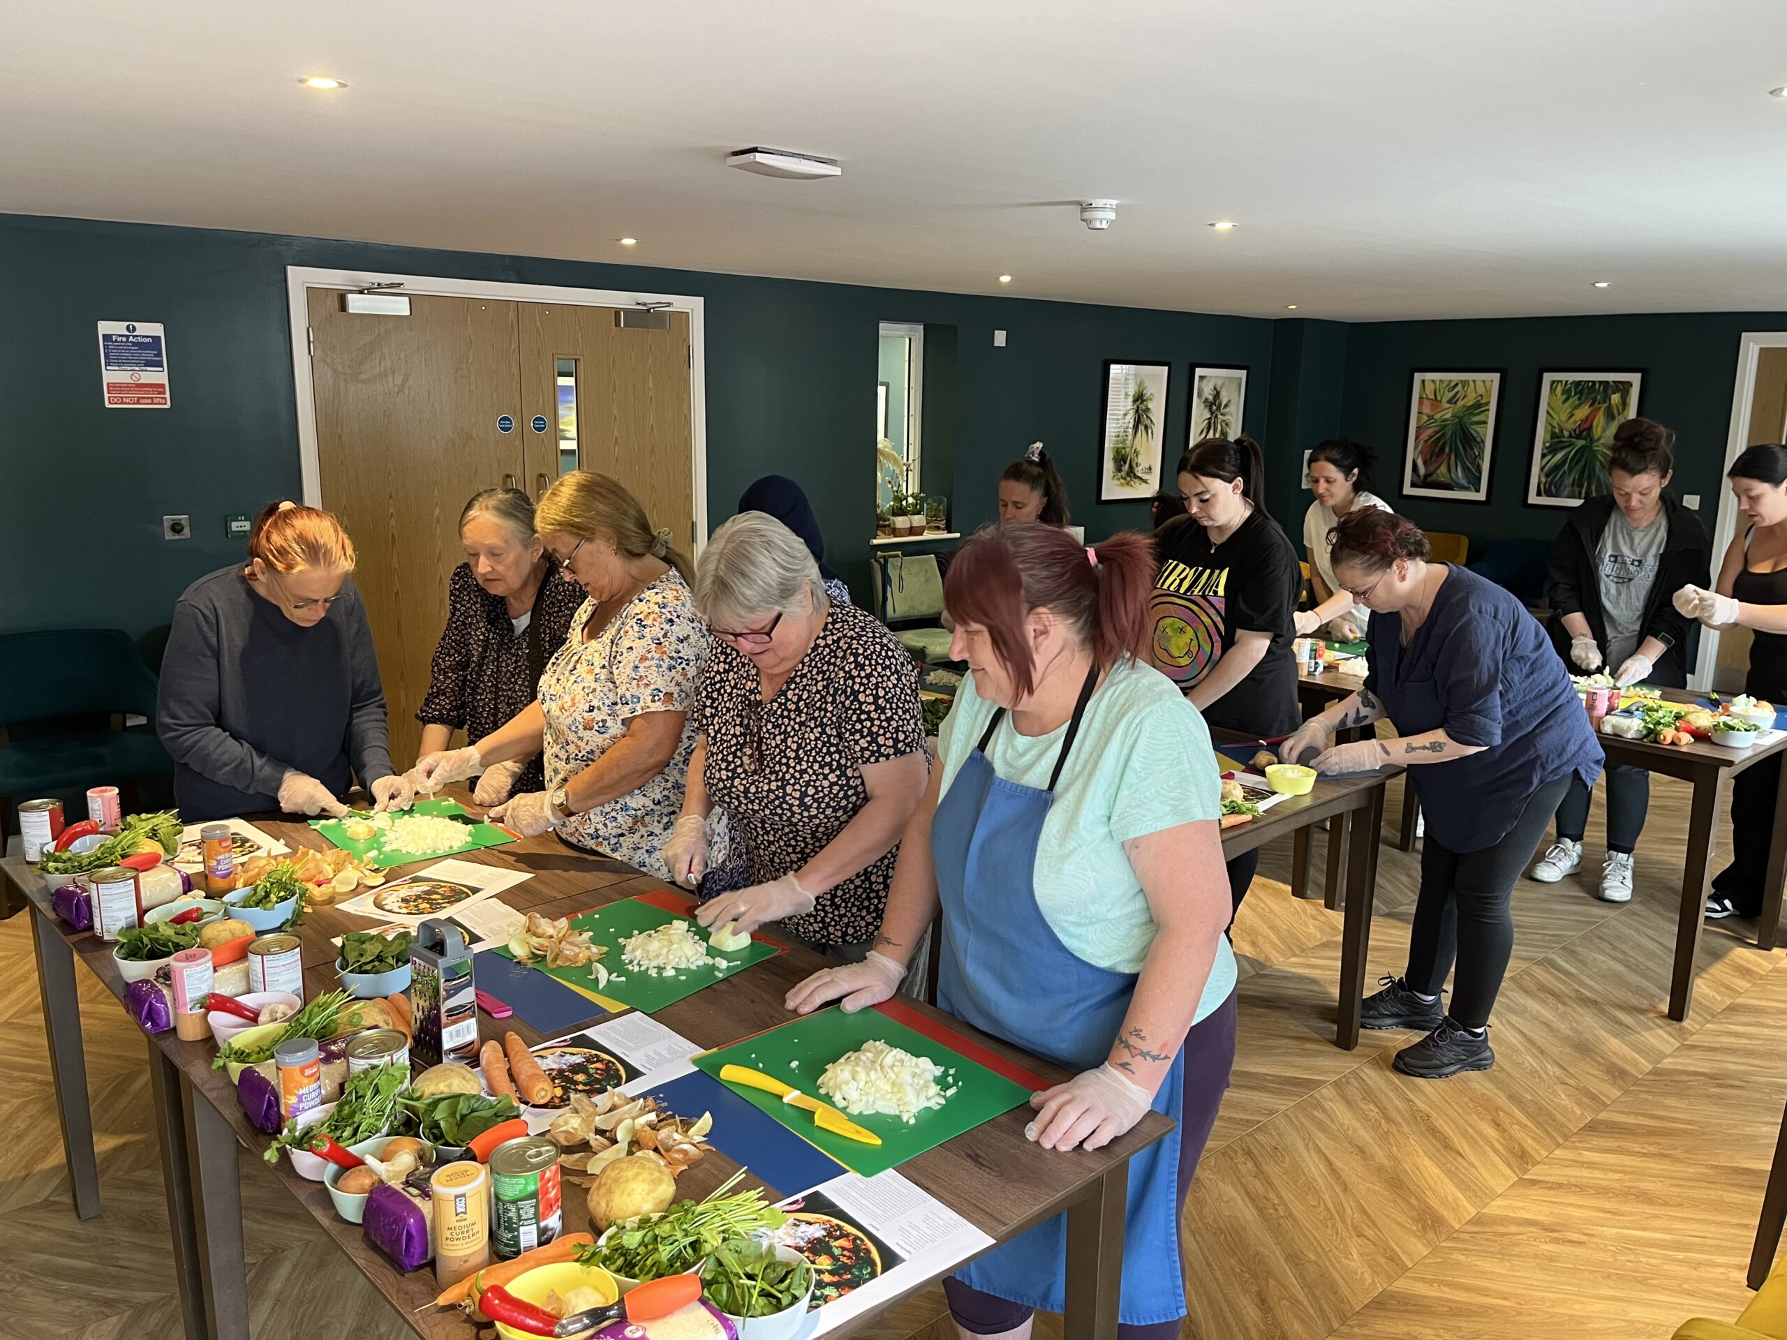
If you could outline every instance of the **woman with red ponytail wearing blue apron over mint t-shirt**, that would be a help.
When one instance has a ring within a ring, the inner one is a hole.
[[[981,532],[949,568],[954,708],[901,845],[876,951],[788,995],[886,1001],[942,911],[938,1004],[1074,1072],[1031,1097],[1042,1149],[1099,1149],[1153,1110],[1129,1163],[1119,1335],[1179,1333],[1179,1213],[1235,1059],[1235,956],[1210,734],[1147,643],[1154,556],[1053,527]],[[1026,1336],[1065,1306],[1065,1217],[944,1281],[963,1335]]]

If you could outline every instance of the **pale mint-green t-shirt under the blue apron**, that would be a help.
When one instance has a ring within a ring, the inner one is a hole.
[[[949,795],[994,711],[995,704],[974,691],[974,675],[963,675],[938,733],[940,795]],[[1044,788],[1065,734],[1063,725],[1044,736],[1022,736],[1008,715],[994,731],[986,758],[1006,781]],[[1124,657],[1086,704],[1042,824],[1033,881],[1044,920],[1086,963],[1140,972],[1156,925],[1122,843],[1221,815],[1222,779],[1204,718],[1170,679]],[[1222,868],[1210,877],[1222,881]],[[1196,1018],[1233,990],[1235,951],[1221,936]]]

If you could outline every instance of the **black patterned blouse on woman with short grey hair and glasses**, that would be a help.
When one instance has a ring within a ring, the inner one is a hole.
[[[831,606],[806,656],[768,702],[743,652],[715,643],[695,691],[708,738],[704,781],[731,829],[733,884],[761,884],[818,856],[868,802],[861,768],[924,750],[919,670],[894,634]],[[860,945],[881,929],[899,843],[786,925],[817,945]]]

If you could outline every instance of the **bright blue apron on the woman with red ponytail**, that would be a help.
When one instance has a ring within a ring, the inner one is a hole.
[[[1097,665],[1074,706],[1047,790],[994,774],[986,745],[1004,720],[1001,708],[931,824],[931,859],[944,900],[936,1004],[1076,1074],[1110,1058],[1137,981],[1135,974],[1099,968],[1074,954],[1036,906],[1036,843],[1095,684]],[[1154,1095],[1154,1111],[1174,1120],[1172,1135],[1129,1160],[1119,1302],[1119,1319],[1129,1326],[1185,1315],[1178,1197],[1183,1093],[1181,1047]],[[970,1288],[1044,1311],[1065,1310],[1065,1215],[956,1272]]]

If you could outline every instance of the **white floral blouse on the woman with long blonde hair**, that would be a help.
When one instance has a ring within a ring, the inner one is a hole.
[[[540,675],[547,790],[565,786],[602,758],[625,734],[631,718],[690,711],[695,681],[708,663],[708,625],[695,615],[695,597],[675,572],[650,582],[584,641],[583,631],[593,613],[595,606],[586,600],[570,622],[565,645]],[[683,811],[693,750],[695,725],[688,722],[663,772],[636,791],[572,815],[559,825],[559,836],[668,879],[663,847]]]

